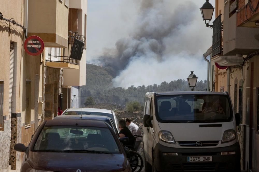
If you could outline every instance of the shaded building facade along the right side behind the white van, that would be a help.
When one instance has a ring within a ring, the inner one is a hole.
[[[215,0],[210,66],[212,91],[227,88],[234,113],[241,116],[237,134],[241,168],[247,171],[259,171],[258,4],[259,0]]]

